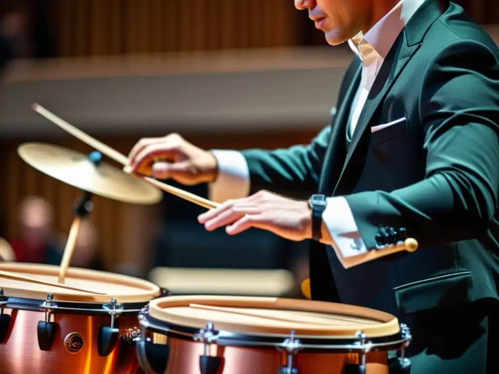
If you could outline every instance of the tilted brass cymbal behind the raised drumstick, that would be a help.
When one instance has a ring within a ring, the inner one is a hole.
[[[113,200],[133,204],[155,204],[160,189],[100,161],[96,165],[79,152],[44,143],[25,143],[17,154],[34,169],[67,185]]]

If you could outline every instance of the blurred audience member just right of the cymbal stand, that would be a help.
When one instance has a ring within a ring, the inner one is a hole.
[[[83,219],[80,223],[80,231],[71,257],[71,266],[103,270],[97,256],[98,243],[99,238],[95,226],[88,219]]]

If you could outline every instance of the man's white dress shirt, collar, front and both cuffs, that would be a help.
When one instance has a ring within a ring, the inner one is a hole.
[[[424,0],[402,0],[359,41],[358,47],[349,40],[353,52],[362,59],[361,82],[352,103],[348,135],[351,138],[366,102],[369,90],[390,48],[409,18]],[[250,171],[245,157],[239,151],[213,150],[218,161],[217,180],[209,185],[210,199],[223,202],[246,197],[250,193]],[[331,234],[336,252],[343,257],[367,251],[348,202],[342,196],[328,197],[322,220]]]

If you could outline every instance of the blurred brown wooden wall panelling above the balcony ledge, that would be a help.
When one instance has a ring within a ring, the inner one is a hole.
[[[59,56],[295,45],[289,0],[54,0]]]

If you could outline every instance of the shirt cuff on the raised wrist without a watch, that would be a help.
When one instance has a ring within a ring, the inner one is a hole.
[[[224,202],[247,197],[250,193],[250,169],[239,151],[212,150],[218,163],[217,180],[208,185],[209,199]]]

